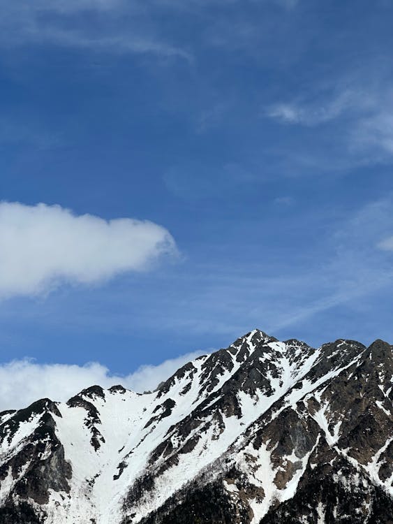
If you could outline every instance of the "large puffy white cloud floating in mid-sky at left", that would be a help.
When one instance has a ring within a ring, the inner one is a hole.
[[[0,203],[0,298],[47,293],[62,282],[96,284],[175,253],[170,233],[149,221]]]

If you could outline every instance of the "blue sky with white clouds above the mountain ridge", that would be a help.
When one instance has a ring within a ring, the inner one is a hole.
[[[392,2],[0,8],[2,406],[393,341]]]

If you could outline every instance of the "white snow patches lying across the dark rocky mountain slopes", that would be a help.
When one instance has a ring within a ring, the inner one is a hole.
[[[240,341],[241,345],[247,344],[244,358],[253,353],[256,344],[262,339],[262,334],[258,337],[258,333],[258,330],[253,330]],[[329,381],[357,363],[360,356],[347,365],[332,367],[324,376],[312,381],[309,372],[323,357],[321,350],[308,352],[304,351],[301,345],[290,346],[284,342],[267,340],[266,347],[265,353],[260,357],[262,364],[266,362],[266,367],[262,366],[262,374],[265,374],[273,393],[267,395],[265,391],[257,389],[251,397],[242,390],[237,391],[237,401],[241,410],[239,418],[235,415],[225,416],[218,410],[223,384],[230,380],[242,365],[237,361],[239,347],[233,344],[231,348],[235,351],[228,351],[232,359],[232,368],[223,369],[216,377],[218,382],[212,391],[207,391],[208,386],[212,384],[205,366],[209,356],[202,356],[192,362],[192,370],[186,372],[184,377],[175,376],[169,391],[161,396],[158,396],[158,392],[138,395],[132,391],[105,391],[104,398],[99,395],[86,397],[98,411],[99,422],[94,423],[94,427],[102,435],[103,442],[97,450],[91,445],[92,428],[91,422],[87,421],[87,410],[83,407],[59,404],[61,416],[53,415],[57,437],[64,446],[65,458],[71,463],[73,473],[69,481],[69,495],[53,491],[50,493],[50,502],[45,506],[47,522],[81,524],[94,521],[96,524],[119,524],[129,488],[149,467],[149,471],[154,473],[154,486],[144,493],[132,508],[135,516],[130,522],[136,524],[187,483],[198,478],[201,472],[209,472],[212,467],[216,467],[215,464],[219,463],[223,453],[229,448],[239,451],[237,455],[234,453],[230,460],[249,476],[251,483],[261,488],[261,495],[249,501],[254,514],[252,524],[259,523],[274,500],[282,502],[293,497],[309,457],[318,445],[319,437],[306,456],[298,458],[295,449],[292,449],[292,453],[281,458],[281,465],[275,467],[272,463],[274,448],[267,449],[269,441],[262,442],[258,450],[251,444],[253,435],[260,428],[261,416],[269,412],[278,400],[282,402],[279,407],[274,408],[270,420],[288,407],[296,410],[299,400],[307,402],[313,398],[319,409],[311,416],[322,429],[329,446],[337,449],[341,420],[337,420],[336,414],[330,412],[327,402],[322,402],[322,393]],[[293,388],[295,384],[301,384],[301,387]],[[183,393],[184,391],[186,393]],[[204,414],[208,414],[200,419],[195,414],[193,421],[198,424],[186,435],[184,428],[187,426],[182,425],[182,421],[212,393],[215,393],[214,399],[207,407],[204,406]],[[167,400],[171,400],[170,404],[174,405],[169,416],[161,417],[163,404]],[[387,413],[382,402],[377,401],[377,405]],[[39,421],[40,415],[33,416],[30,421],[20,425],[10,443],[5,439],[0,460],[17,453]],[[179,453],[185,444],[191,443],[193,437],[198,437],[198,442],[193,442],[195,445],[190,446],[187,453]],[[175,460],[172,461],[171,467],[158,474],[168,457],[158,457],[154,465],[149,465],[149,460],[151,453],[167,439],[172,443],[171,454]],[[388,444],[389,442],[376,453],[369,465],[363,466],[371,478],[379,483],[380,458]],[[48,446],[40,458],[43,460],[49,452]],[[345,453],[342,450],[339,452]],[[279,468],[285,468],[289,463],[299,463],[300,467],[295,470],[286,486],[279,489],[274,479]],[[120,465],[122,466],[119,467]],[[13,479],[8,472],[6,479],[1,483],[1,496],[4,497],[12,488]],[[239,490],[234,483],[224,481],[224,488],[231,497],[239,496]],[[265,494],[263,497],[262,490]],[[318,524],[324,524],[325,508],[321,503],[316,511]]]

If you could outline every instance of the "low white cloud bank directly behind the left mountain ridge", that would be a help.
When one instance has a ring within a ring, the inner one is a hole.
[[[0,412],[27,407],[40,398],[65,402],[84,388],[117,384],[138,393],[152,391],[179,367],[202,355],[194,351],[158,365],[142,365],[126,376],[111,374],[100,363],[87,365],[38,364],[24,359],[0,365]]]

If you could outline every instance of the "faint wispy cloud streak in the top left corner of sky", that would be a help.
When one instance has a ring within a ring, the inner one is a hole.
[[[10,5],[0,0],[0,7],[0,45],[8,49],[46,44],[192,60],[188,51],[158,35],[148,6],[140,1],[22,1]]]

